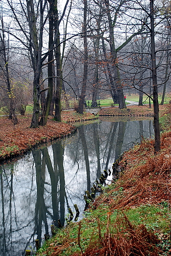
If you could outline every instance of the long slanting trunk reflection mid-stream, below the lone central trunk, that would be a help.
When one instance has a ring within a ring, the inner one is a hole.
[[[88,156],[88,149],[87,149],[87,143],[84,135],[84,127],[80,126],[78,127],[79,136],[81,138],[83,151],[84,151],[84,159],[86,164],[86,172],[87,172],[87,190],[90,191],[90,164],[89,164],[89,156]]]

